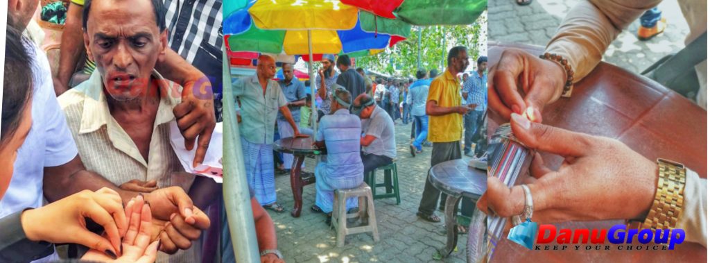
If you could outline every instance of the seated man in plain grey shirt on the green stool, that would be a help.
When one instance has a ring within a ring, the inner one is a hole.
[[[392,163],[397,157],[395,143],[395,124],[390,114],[375,105],[370,95],[359,95],[353,103],[353,113],[362,119],[362,131],[365,136],[360,139],[362,163],[365,173],[374,171],[380,166]]]

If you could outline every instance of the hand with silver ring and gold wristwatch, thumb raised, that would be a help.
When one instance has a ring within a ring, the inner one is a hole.
[[[645,218],[657,184],[655,162],[614,139],[530,122],[519,114],[512,114],[511,119],[513,134],[523,144],[564,157],[562,166],[552,171],[537,154],[530,166],[532,178],[523,178],[532,193],[532,220]],[[525,200],[523,188],[508,188],[491,179],[478,208],[501,217],[520,215]]]

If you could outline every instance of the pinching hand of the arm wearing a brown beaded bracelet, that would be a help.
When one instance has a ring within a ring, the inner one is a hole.
[[[559,99],[566,77],[561,65],[508,48],[489,70],[488,105],[506,119],[515,112],[542,122],[542,109]],[[523,112],[528,107],[530,112]]]

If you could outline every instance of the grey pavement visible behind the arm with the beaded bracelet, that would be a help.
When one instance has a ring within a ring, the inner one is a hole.
[[[546,45],[569,9],[579,0],[533,0],[518,6],[515,0],[488,1],[488,40]],[[665,32],[649,41],[639,41],[635,34],[638,19],[631,23],[606,50],[603,60],[640,73],[652,63],[683,48],[689,32],[677,1],[662,1],[659,8],[666,18]]]

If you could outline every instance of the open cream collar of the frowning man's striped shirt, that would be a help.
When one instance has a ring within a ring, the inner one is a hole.
[[[157,70],[153,70],[151,75],[155,80],[158,80],[158,89],[160,90],[160,105],[158,105],[158,114],[155,115],[155,125],[157,126],[175,119],[173,107],[180,103],[182,88],[165,80]],[[109,103],[104,93],[104,82],[99,70],[94,70],[87,82],[89,82],[89,87],[85,91],[84,111],[79,134],[95,132],[113,118],[109,111]]]

